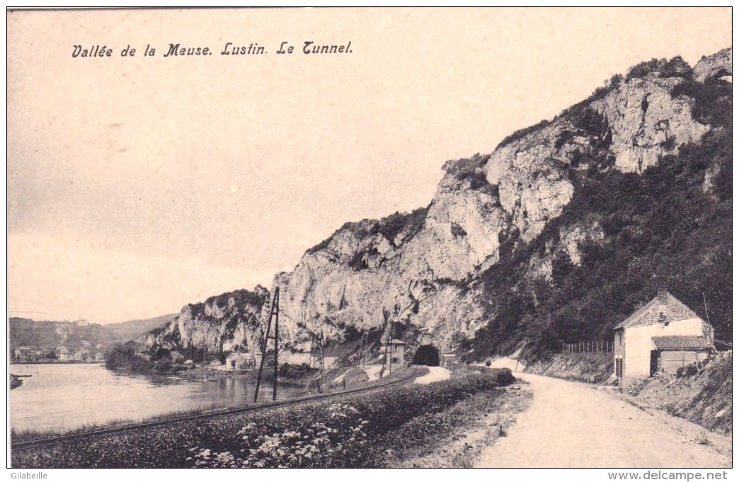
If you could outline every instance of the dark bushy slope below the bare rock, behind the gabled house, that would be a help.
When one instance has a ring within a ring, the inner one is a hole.
[[[588,169],[571,166],[576,189],[562,214],[530,243],[514,234],[511,251],[482,274],[490,322],[463,347],[468,358],[511,353],[525,342],[535,361],[562,342],[610,339],[657,288],[707,317],[717,339],[732,339],[731,89],[718,79],[678,84],[673,95],[689,96],[712,129],[641,175],[610,169],[606,149],[589,155]],[[562,232],[585,221],[604,236],[579,243],[579,262],[551,252]],[[532,275],[531,260],[545,255],[551,277]]]

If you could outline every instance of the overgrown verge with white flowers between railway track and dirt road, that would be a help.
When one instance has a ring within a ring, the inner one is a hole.
[[[384,382],[407,376],[406,370],[415,373],[415,369],[398,370]],[[13,466],[24,468],[382,466],[389,449],[399,447],[401,441],[408,445],[411,438],[415,445],[435,440],[454,424],[454,418],[443,413],[477,393],[502,393],[498,387],[496,377],[486,374],[429,385],[385,387],[259,413],[217,415],[74,438],[63,444],[14,450],[11,459]],[[446,422],[437,423],[440,420]],[[248,446],[245,438],[250,441]],[[279,447],[279,451],[266,447]]]

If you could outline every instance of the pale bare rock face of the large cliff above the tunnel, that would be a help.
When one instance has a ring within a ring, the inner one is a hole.
[[[721,64],[712,59],[698,67]],[[491,154],[446,163],[428,208],[347,223],[307,251],[294,271],[276,276],[290,332],[334,336],[342,327],[392,321],[423,328],[441,347],[454,333],[474,336],[491,319],[481,275],[495,271],[502,251],[539,237],[590,178],[609,170],[641,174],[700,143],[714,126],[676,87],[701,89],[696,84],[726,74],[725,67],[710,69],[696,81],[680,58],[640,64],[553,121],[509,136]],[[596,217],[573,221],[527,259],[529,277],[551,282],[556,257],[566,254],[579,265],[579,246],[604,239]]]

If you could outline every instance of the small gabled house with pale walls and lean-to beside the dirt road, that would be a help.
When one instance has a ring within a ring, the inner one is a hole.
[[[613,374],[622,385],[675,373],[715,350],[713,327],[667,291],[613,328],[613,338]]]

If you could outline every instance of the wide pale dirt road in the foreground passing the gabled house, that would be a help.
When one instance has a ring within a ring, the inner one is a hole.
[[[729,467],[731,438],[666,413],[634,407],[608,390],[517,373],[531,407],[477,467]]]

